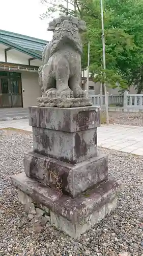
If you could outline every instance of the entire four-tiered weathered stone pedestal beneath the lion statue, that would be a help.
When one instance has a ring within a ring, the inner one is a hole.
[[[78,237],[117,207],[122,185],[108,178],[107,156],[97,152],[99,108],[35,106],[29,120],[34,152],[24,154],[24,172],[12,177],[19,200],[48,212],[51,225]]]

